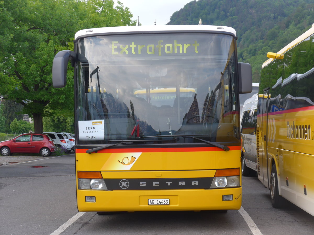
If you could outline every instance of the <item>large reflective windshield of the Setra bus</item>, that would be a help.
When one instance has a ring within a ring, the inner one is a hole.
[[[169,135],[238,144],[234,37],[102,35],[76,45],[78,144]]]

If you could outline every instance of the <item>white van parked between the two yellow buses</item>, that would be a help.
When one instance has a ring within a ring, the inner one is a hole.
[[[241,120],[241,145],[242,145],[242,175],[256,176],[256,123],[257,123],[258,93],[248,98],[242,108]]]

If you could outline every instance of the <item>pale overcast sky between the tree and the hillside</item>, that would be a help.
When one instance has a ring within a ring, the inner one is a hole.
[[[170,17],[192,0],[120,0],[133,14],[133,20],[139,17],[142,25],[165,25]],[[117,0],[115,0],[117,2]]]

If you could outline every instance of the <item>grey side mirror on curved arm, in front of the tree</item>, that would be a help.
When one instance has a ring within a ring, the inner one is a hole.
[[[65,87],[67,83],[68,61],[71,60],[72,67],[76,60],[76,54],[71,50],[62,50],[55,55],[52,62],[52,85],[56,88]]]

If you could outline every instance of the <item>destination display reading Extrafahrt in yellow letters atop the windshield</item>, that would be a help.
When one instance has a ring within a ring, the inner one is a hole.
[[[85,40],[89,57],[102,60],[127,60],[158,57],[228,56],[233,38],[223,34],[151,34],[97,36]],[[85,48],[85,51],[86,48]]]

